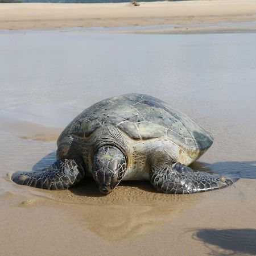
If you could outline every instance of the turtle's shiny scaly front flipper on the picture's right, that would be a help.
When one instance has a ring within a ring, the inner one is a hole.
[[[172,194],[205,192],[232,185],[238,179],[229,179],[207,172],[193,171],[180,163],[162,164],[151,170],[151,184],[157,191]]]

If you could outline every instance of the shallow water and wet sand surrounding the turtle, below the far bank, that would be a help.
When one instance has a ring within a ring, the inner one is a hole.
[[[60,254],[72,241],[67,254],[256,254],[255,44],[256,34],[0,34],[3,253]],[[60,131],[81,110],[130,92],[168,102],[214,135],[192,168],[241,179],[189,196],[140,182],[101,196],[92,180],[66,191],[10,181],[52,163]]]

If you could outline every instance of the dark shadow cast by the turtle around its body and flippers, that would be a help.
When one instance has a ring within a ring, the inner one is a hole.
[[[36,171],[40,168],[51,165],[56,160],[56,152],[53,151],[40,159],[32,170]],[[190,166],[193,170],[208,172],[209,174],[226,175],[230,177],[241,177],[246,179],[256,179],[256,161],[250,162],[217,162],[213,164],[204,162],[195,162]],[[121,181],[119,187],[137,187],[146,192],[157,192],[150,184],[150,181]],[[85,177],[80,183],[69,188],[69,191],[79,196],[102,197],[95,181],[90,177]]]

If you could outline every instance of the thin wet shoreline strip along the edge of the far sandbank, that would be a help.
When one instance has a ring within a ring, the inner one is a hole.
[[[0,35],[10,33],[22,34],[241,34],[255,33],[255,22],[240,23],[213,23],[203,24],[204,26],[182,26],[182,25],[153,25],[153,26],[125,26],[125,27],[60,27],[60,28],[26,28],[26,29],[0,29]]]

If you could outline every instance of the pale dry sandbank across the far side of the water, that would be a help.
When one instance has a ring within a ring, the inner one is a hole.
[[[254,0],[0,4],[0,29],[170,25],[151,32],[256,31]],[[236,22],[234,26],[216,23]],[[201,28],[201,25],[204,25]],[[119,31],[120,32],[120,31]],[[141,32],[148,32],[142,30]]]

